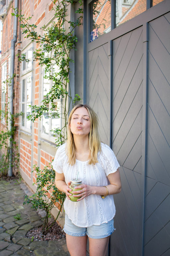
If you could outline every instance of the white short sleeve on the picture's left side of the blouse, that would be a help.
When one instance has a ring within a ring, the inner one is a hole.
[[[53,169],[57,173],[63,173],[63,159],[66,157],[65,144],[61,145],[55,154],[54,161],[52,162]]]

